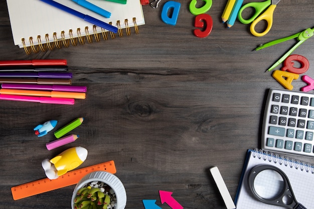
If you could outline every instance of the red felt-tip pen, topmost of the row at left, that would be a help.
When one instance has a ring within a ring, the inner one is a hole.
[[[49,65],[67,65],[67,60],[3,60],[0,66],[49,66]]]

